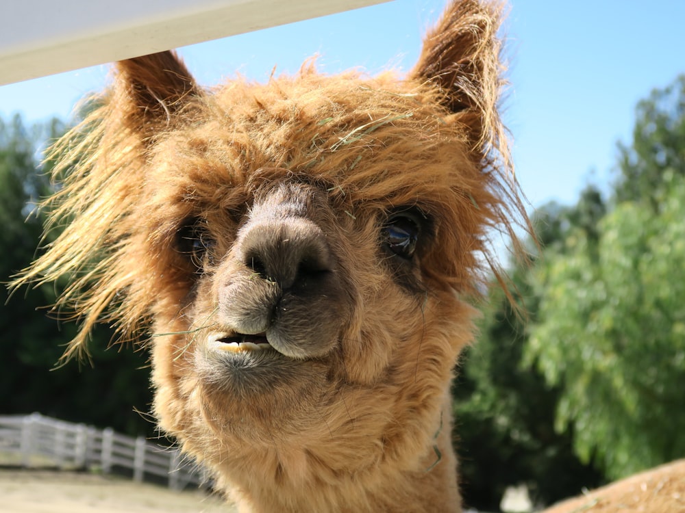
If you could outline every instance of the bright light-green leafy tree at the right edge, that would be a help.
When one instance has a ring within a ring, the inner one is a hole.
[[[684,77],[640,102],[608,213],[535,273],[526,360],[562,389],[557,430],[612,479],[685,456],[684,106]]]

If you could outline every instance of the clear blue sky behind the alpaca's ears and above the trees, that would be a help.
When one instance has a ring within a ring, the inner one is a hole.
[[[295,73],[319,54],[336,73],[408,70],[421,34],[444,0],[395,0],[184,47],[179,53],[210,86],[236,72],[263,81],[273,66]],[[630,142],[634,107],[653,88],[685,73],[685,1],[511,0],[506,21],[510,88],[504,118],[514,161],[533,207],[571,203],[593,181],[606,185],[616,142]],[[103,88],[108,66],[0,87],[0,116],[29,122],[69,118],[75,103]]]

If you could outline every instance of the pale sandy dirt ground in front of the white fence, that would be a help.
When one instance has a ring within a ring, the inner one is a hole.
[[[235,513],[219,497],[130,479],[66,471],[0,469],[2,513]]]

